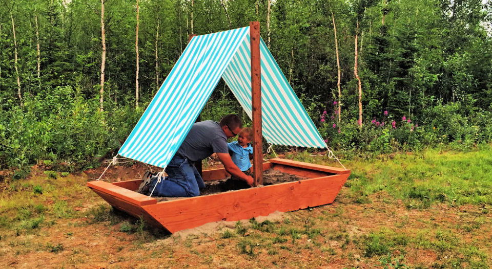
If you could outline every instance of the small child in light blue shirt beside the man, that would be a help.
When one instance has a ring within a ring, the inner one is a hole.
[[[247,175],[250,175],[250,154],[253,154],[253,147],[251,146],[251,140],[253,139],[253,130],[250,127],[243,128],[237,137],[237,141],[228,143],[229,154],[231,154],[232,161],[237,165],[241,171]],[[229,190],[239,190],[249,188],[250,186],[244,181],[231,177],[226,183]]]

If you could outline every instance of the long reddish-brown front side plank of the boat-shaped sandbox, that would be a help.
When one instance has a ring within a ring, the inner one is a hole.
[[[143,208],[171,233],[208,222],[235,221],[333,203],[348,174],[162,201]]]

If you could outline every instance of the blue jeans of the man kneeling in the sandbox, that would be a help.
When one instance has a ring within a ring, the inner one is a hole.
[[[186,158],[175,155],[166,168],[169,175],[157,184],[157,178],[152,179],[150,191],[155,187],[152,196],[194,197],[200,195],[200,189],[205,188],[195,166]]]

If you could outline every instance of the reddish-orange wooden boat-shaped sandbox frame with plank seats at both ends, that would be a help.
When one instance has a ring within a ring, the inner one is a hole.
[[[137,193],[141,180],[108,183],[91,181],[87,186],[111,206],[152,226],[175,233],[208,222],[236,221],[331,204],[350,175],[350,170],[285,159],[263,163],[263,170],[275,169],[306,179],[269,186],[227,191],[196,197],[159,201]],[[204,170],[204,181],[227,178],[225,169]]]

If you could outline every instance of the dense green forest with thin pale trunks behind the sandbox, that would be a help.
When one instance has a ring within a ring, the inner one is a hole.
[[[482,0],[1,0],[0,169],[113,156],[189,34],[259,20],[344,158],[492,140],[492,3]],[[242,108],[220,81],[202,119]]]

